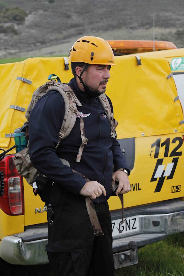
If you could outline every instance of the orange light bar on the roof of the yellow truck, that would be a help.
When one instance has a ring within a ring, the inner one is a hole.
[[[155,44],[155,51],[176,49],[176,45],[170,41],[158,40],[107,40],[116,53],[141,53],[153,51]]]

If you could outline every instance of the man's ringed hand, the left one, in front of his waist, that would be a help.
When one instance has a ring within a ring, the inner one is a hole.
[[[83,196],[89,196],[91,199],[95,199],[96,197],[101,196],[101,194],[106,196],[106,191],[104,186],[102,186],[97,181],[88,181],[80,190],[79,194]]]

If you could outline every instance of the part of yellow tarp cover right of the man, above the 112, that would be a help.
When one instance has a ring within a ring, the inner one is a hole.
[[[118,121],[118,138],[152,136],[183,132],[180,101],[167,59],[118,56],[111,67],[107,95]]]

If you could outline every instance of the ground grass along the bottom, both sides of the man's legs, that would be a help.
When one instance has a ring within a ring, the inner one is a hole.
[[[184,233],[138,250],[138,264],[115,271],[114,276],[184,276]],[[49,265],[20,266],[0,263],[1,276],[52,276]]]

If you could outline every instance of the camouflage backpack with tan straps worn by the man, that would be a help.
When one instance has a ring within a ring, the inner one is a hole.
[[[25,113],[25,117],[27,118],[27,122],[29,121],[29,116],[30,112],[35,106],[35,104],[38,102],[38,100],[45,95],[46,93],[57,90],[63,97],[64,102],[65,102],[65,114],[64,114],[64,119],[63,123],[61,126],[61,129],[59,131],[58,135],[58,144],[56,148],[58,147],[59,143],[61,140],[63,140],[65,137],[67,137],[72,128],[75,125],[75,121],[77,118],[77,115],[80,117],[80,132],[81,132],[81,140],[82,144],[80,145],[76,162],[80,162],[81,156],[82,156],[82,151],[84,146],[87,145],[87,138],[85,137],[85,130],[84,130],[84,120],[79,111],[77,110],[77,106],[82,106],[77,97],[75,96],[73,90],[71,89],[70,86],[67,84],[63,84],[61,82],[56,82],[55,80],[53,81],[48,81],[44,85],[40,86],[37,88],[32,96],[31,102],[28,106],[28,109]],[[107,114],[109,123],[111,125],[111,137],[115,138],[115,128],[117,126],[117,121],[113,118],[113,113],[111,111],[111,107],[109,104],[109,101],[105,94],[100,95],[99,101],[101,102],[101,105],[104,109],[104,111]],[[29,142],[28,142],[29,144]],[[39,171],[36,170],[36,168],[33,167],[31,161],[30,161],[30,156],[29,156],[29,145],[27,148],[19,151],[18,153],[15,154],[15,159],[14,159],[15,166],[17,168],[18,173],[23,176],[26,181],[30,184],[33,185],[33,183],[36,180],[36,177],[40,174]]]

